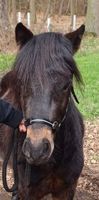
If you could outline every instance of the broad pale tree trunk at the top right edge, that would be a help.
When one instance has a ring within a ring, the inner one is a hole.
[[[99,36],[99,0],[88,0],[86,32]]]

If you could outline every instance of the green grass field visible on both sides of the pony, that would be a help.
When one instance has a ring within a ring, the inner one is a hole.
[[[95,119],[99,117],[99,39],[86,37],[75,59],[85,84],[83,94],[75,89],[78,107],[85,119]],[[13,61],[13,55],[0,55],[0,72],[8,71]]]

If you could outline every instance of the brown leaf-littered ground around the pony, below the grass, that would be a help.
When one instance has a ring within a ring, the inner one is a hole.
[[[84,137],[85,166],[79,179],[75,200],[99,200],[99,119],[85,122]],[[1,181],[0,165],[0,200],[10,200]],[[12,183],[11,170],[8,180]],[[47,198],[50,200],[50,196]]]

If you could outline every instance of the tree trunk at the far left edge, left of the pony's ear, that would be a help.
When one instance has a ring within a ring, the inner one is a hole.
[[[10,24],[7,0],[0,0],[0,51],[5,51],[10,41]]]

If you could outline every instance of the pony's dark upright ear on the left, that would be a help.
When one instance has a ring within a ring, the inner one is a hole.
[[[15,28],[15,39],[20,48],[23,47],[31,38],[33,33],[27,29],[22,23],[18,23]]]

